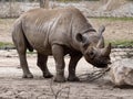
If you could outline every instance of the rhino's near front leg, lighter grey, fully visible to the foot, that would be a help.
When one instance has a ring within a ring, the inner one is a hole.
[[[52,46],[52,54],[53,54],[53,57],[55,59],[55,69],[57,69],[57,75],[55,75],[54,81],[64,82],[65,77],[64,77],[63,47],[60,45],[53,45]]]

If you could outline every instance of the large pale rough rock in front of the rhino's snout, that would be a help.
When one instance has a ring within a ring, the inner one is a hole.
[[[133,86],[133,59],[124,58],[114,62],[111,65],[110,76],[115,86]]]

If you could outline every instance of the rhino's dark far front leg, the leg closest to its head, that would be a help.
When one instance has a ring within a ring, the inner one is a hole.
[[[70,64],[69,64],[69,81],[79,81],[80,79],[75,76],[75,67],[80,58],[82,57],[81,54],[71,55]]]

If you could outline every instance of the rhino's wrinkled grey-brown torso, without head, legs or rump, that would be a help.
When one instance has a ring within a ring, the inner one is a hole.
[[[34,9],[21,16],[23,33],[33,48],[51,53],[52,44],[79,47],[75,35],[91,24],[74,8]]]

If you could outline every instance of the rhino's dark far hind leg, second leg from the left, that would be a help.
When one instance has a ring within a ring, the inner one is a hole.
[[[51,73],[49,72],[47,62],[48,62],[48,56],[38,53],[38,64],[37,65],[42,70],[44,78],[51,78],[51,77],[53,77],[53,75],[51,75]]]

